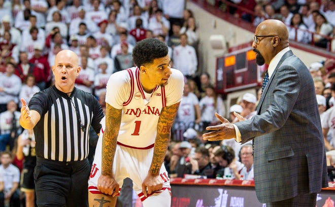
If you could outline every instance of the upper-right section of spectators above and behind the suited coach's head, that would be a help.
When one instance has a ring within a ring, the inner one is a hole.
[[[335,51],[334,0],[225,0],[219,6],[254,26],[265,19],[281,20],[290,40]]]

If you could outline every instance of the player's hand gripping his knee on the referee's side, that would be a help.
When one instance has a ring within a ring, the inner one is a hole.
[[[106,195],[112,195],[112,197],[119,194],[119,184],[109,175],[101,175],[99,177],[97,189]]]

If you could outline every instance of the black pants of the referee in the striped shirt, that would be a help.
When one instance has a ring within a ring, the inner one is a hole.
[[[34,172],[37,205],[88,207],[90,169],[87,159],[60,162],[37,157]]]

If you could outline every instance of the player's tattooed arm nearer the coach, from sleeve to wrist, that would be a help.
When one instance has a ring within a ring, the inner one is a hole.
[[[151,161],[149,173],[151,175],[158,175],[160,167],[164,161],[166,149],[168,149],[171,128],[175,121],[179,103],[175,103],[172,106],[164,107],[160,114],[157,124],[157,135],[155,140],[154,154]]]

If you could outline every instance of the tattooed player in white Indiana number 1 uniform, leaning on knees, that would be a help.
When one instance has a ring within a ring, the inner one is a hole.
[[[90,206],[114,206],[125,178],[132,180],[143,206],[171,205],[162,163],[184,78],[171,68],[168,47],[159,40],[138,42],[132,56],[137,67],[114,73],[107,84],[106,127],[91,169]]]

